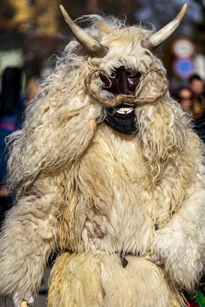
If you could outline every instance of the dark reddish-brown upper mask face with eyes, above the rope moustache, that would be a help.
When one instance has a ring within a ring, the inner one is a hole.
[[[136,87],[140,81],[140,73],[121,66],[115,69],[115,71],[113,71],[109,77],[109,80],[112,84],[111,86],[106,76],[100,75],[100,79],[104,83],[102,86],[103,90],[109,91],[115,96],[120,94],[129,95],[135,92]]]

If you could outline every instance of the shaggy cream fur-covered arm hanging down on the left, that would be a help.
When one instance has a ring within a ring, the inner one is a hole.
[[[55,245],[57,193],[51,183],[41,184],[9,212],[0,239],[0,296],[12,297],[16,306],[38,291]]]

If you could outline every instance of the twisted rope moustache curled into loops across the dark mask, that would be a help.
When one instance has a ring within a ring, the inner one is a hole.
[[[136,88],[136,92],[139,89],[139,86],[141,84],[141,82],[147,77],[147,75],[149,73],[155,72],[157,73],[160,78],[161,81],[163,82],[163,85],[159,91],[159,93],[157,93],[157,95],[155,97],[149,97],[149,98],[137,98],[136,95],[134,94],[130,94],[130,95],[117,95],[116,97],[114,97],[112,100],[107,100],[105,98],[101,98],[97,95],[97,93],[93,92],[91,90],[90,84],[92,82],[92,77],[94,74],[98,74],[97,77],[99,77],[99,74],[103,74],[105,75],[108,79],[109,76],[106,74],[106,72],[103,69],[94,69],[92,70],[88,76],[86,77],[85,80],[85,86],[86,86],[86,90],[88,91],[90,97],[92,99],[94,99],[95,101],[97,101],[98,103],[104,105],[105,107],[116,107],[120,104],[127,104],[127,105],[131,105],[131,106],[143,106],[146,104],[151,104],[151,103],[155,103],[156,101],[159,101],[160,98],[162,98],[163,96],[165,96],[165,94],[167,93],[167,89],[168,89],[168,80],[167,77],[165,76],[165,74],[160,70],[160,69],[149,69],[144,76],[141,77],[139,84],[137,85]],[[109,79],[110,80],[110,79]]]

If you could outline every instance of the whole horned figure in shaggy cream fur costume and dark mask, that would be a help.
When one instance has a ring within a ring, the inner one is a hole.
[[[71,41],[9,139],[16,205],[0,295],[33,304],[54,251],[49,307],[180,307],[205,257],[202,143],[168,91],[157,33],[60,7]]]

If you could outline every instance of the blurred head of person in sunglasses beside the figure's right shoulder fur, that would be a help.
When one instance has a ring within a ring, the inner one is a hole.
[[[193,110],[194,93],[188,86],[183,86],[177,93],[177,101],[185,108],[186,112],[190,115]]]

